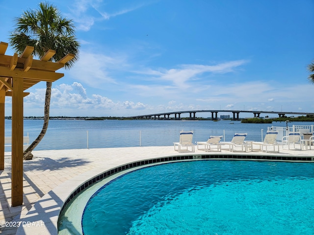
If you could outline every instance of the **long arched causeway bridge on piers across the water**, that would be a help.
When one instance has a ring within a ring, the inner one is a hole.
[[[287,114],[291,115],[314,115],[314,113],[302,113],[302,112],[274,112],[274,111],[245,111],[245,110],[193,110],[193,111],[177,111],[177,112],[168,112],[168,113],[159,113],[159,114],[150,114],[150,115],[138,115],[127,118],[133,119],[157,119],[157,120],[168,120],[171,115],[174,115],[175,120],[181,120],[181,114],[189,114],[190,120],[195,120],[196,113],[211,113],[211,120],[218,119],[218,113],[232,113],[233,120],[239,120],[239,113],[252,113],[254,118],[260,118],[261,114],[277,114],[279,118],[285,117]]]

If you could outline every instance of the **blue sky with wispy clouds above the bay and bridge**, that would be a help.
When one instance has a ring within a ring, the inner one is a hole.
[[[74,21],[81,43],[78,62],[52,85],[51,116],[314,113],[313,0],[50,2]],[[13,18],[38,3],[0,0],[0,41],[9,43]],[[45,87],[28,89],[25,116],[43,116]]]

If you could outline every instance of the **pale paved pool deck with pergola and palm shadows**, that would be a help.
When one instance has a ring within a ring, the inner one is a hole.
[[[288,150],[280,146],[280,153],[229,152],[224,149],[222,152],[204,152],[197,148],[194,153],[178,153],[173,146],[151,146],[40,150],[33,151],[33,155],[33,160],[24,161],[24,203],[11,207],[11,161],[10,153],[5,153],[5,168],[0,171],[1,235],[57,234],[58,215],[69,195],[92,177],[123,164],[186,155],[314,157],[314,146],[312,150]],[[19,229],[18,223],[21,223]]]

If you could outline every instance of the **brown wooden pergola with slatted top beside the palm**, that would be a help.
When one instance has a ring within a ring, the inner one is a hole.
[[[5,55],[7,43],[0,42],[0,170],[4,169],[4,103],[12,96],[12,206],[23,204],[23,98],[26,89],[40,81],[54,82],[64,76],[56,70],[74,58],[68,54],[57,63],[49,61],[55,50],[34,60],[34,47],[26,46],[21,56]]]

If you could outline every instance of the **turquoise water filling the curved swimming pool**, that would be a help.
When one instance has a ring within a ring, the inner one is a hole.
[[[314,234],[314,164],[193,161],[155,165],[100,188],[85,235]]]

